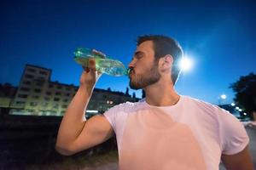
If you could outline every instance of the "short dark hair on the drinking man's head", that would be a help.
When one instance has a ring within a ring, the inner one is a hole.
[[[180,44],[172,37],[166,37],[162,35],[145,35],[137,37],[137,46],[143,42],[152,41],[154,44],[154,59],[158,61],[161,57],[165,57],[166,54],[172,55],[172,82],[173,85],[177,82],[177,77],[181,71],[178,62],[183,58],[183,49]]]

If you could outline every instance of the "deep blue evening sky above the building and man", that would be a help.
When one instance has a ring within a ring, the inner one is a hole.
[[[26,64],[52,69],[52,81],[79,85],[77,47],[102,50],[128,65],[136,38],[177,39],[194,59],[177,82],[179,94],[213,104],[256,72],[255,1],[0,1],[0,82],[18,85]],[[127,77],[104,75],[96,88],[125,92]],[[130,90],[130,94],[133,90]],[[137,91],[141,97],[141,91]]]

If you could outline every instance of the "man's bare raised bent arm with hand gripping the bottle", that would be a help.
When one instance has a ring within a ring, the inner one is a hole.
[[[62,118],[55,144],[55,149],[63,155],[86,150],[113,135],[113,128],[105,116],[93,116],[88,121],[84,118],[95,83],[101,76],[96,71],[94,59],[90,59],[88,68],[84,69],[79,90]]]

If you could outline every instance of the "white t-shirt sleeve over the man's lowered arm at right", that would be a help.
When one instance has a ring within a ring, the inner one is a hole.
[[[230,114],[229,111],[221,110],[219,115],[219,133],[222,143],[222,153],[225,155],[234,155],[249,143],[249,138],[242,123]]]

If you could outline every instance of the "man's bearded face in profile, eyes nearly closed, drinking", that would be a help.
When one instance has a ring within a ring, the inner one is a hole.
[[[131,69],[130,87],[132,89],[146,88],[160,80],[158,60],[154,61],[154,48],[152,41],[141,43],[129,64]]]

